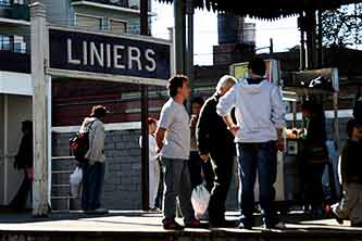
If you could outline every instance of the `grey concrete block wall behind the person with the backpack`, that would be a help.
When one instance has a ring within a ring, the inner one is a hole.
[[[74,134],[52,135],[52,155],[70,155],[68,140]],[[102,202],[111,210],[141,208],[141,152],[138,145],[140,130],[107,131],[105,138],[105,181]],[[53,161],[53,169],[70,168],[67,164]],[[71,168],[74,168],[71,167]],[[53,181],[64,182],[62,180]]]

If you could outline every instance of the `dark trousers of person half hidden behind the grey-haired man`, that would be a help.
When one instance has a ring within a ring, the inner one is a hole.
[[[188,161],[190,172],[190,180],[192,190],[203,182],[201,169],[204,175],[207,189],[211,192],[214,186],[214,173],[210,162],[203,162],[198,152],[190,152],[190,160]]]

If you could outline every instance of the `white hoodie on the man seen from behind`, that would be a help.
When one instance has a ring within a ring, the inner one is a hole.
[[[220,99],[216,112],[226,116],[233,107],[240,127],[235,142],[277,140],[277,129],[285,126],[286,107],[280,90],[266,79],[259,85],[249,85],[247,79],[236,84]]]

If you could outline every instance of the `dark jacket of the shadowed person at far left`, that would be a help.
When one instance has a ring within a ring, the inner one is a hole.
[[[33,135],[24,134],[17,154],[15,155],[14,166],[17,169],[33,167]]]

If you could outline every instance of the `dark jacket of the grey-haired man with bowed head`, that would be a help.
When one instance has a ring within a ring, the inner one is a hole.
[[[216,113],[219,100],[214,94],[202,106],[196,130],[198,149],[200,154],[210,153],[211,156],[235,155],[234,136]]]

